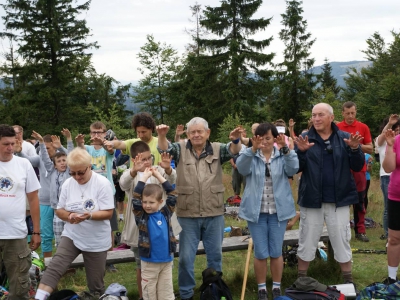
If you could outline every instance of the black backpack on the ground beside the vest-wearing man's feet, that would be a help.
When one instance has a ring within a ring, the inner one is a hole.
[[[231,291],[222,280],[222,272],[207,268],[202,272],[203,283],[200,286],[200,300],[233,300]]]

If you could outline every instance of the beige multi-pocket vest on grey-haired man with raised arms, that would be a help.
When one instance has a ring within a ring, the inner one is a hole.
[[[186,143],[180,142],[181,155],[176,168],[178,217],[199,218],[224,213],[224,191],[220,143],[211,143],[213,155],[196,159]]]

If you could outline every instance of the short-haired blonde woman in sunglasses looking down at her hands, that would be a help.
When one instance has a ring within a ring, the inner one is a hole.
[[[67,157],[71,178],[61,189],[57,216],[66,221],[57,252],[43,274],[35,299],[47,299],[61,276],[82,253],[89,292],[104,293],[107,250],[111,245],[110,221],[114,196],[110,182],[91,170],[91,156],[75,148]]]

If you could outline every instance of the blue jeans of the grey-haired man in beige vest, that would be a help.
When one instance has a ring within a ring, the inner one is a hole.
[[[178,217],[182,231],[179,234],[179,292],[181,298],[193,296],[196,286],[194,261],[200,240],[207,256],[207,268],[222,271],[222,240],[224,238],[224,216],[205,218]]]

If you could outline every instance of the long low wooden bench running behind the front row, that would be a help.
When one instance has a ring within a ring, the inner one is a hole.
[[[320,241],[329,242],[328,231],[324,227],[321,234]],[[299,242],[299,230],[288,230],[285,232],[285,238],[283,240],[283,245],[296,245]],[[237,250],[247,250],[249,244],[249,239],[246,236],[234,236],[224,238],[222,242],[222,252],[237,251]],[[203,247],[203,242],[199,243],[197,248],[197,255],[205,254]],[[177,252],[175,256],[179,256],[179,244],[177,247]],[[49,265],[51,257],[45,258],[46,266]],[[131,250],[116,250],[109,251],[107,253],[107,264],[120,264],[127,262],[134,262],[135,256]],[[83,267],[83,257],[81,254],[71,263],[71,268]]]

